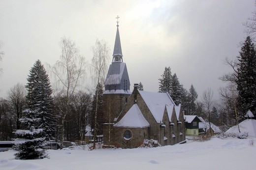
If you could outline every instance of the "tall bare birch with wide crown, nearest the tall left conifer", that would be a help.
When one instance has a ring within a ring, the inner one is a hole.
[[[70,112],[69,104],[70,97],[73,95],[82,77],[85,75],[85,58],[80,56],[75,43],[67,38],[61,39],[61,57],[54,66],[50,66],[51,72],[57,80],[56,91],[64,96],[65,108],[60,108],[61,111],[61,143],[63,141],[64,121],[66,115]],[[62,147],[62,144],[61,144]]]

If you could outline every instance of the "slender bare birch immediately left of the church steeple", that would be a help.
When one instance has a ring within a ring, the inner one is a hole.
[[[107,61],[109,59],[109,47],[104,40],[96,40],[95,46],[92,47],[93,58],[91,64],[91,72],[96,80],[96,85],[103,84],[106,70]],[[96,135],[97,135],[97,108],[98,108],[98,90],[96,92],[96,109],[94,115],[94,148],[96,147]]]

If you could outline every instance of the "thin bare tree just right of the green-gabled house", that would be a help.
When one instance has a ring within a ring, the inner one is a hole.
[[[211,137],[212,136],[211,113],[212,113],[212,109],[215,104],[215,101],[213,99],[213,90],[211,88],[208,88],[207,90],[205,90],[203,92],[202,103],[203,103],[203,108],[204,108],[205,114],[206,114],[208,122],[209,122],[209,130],[210,130],[210,137]]]

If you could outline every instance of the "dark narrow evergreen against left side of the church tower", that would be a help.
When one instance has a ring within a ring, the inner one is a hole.
[[[98,103],[96,105],[96,96],[98,94]],[[97,106],[97,116],[96,116],[96,125],[95,125],[95,111],[96,111],[96,106]],[[91,122],[91,128],[96,130],[97,135],[102,135],[102,127],[101,124],[104,122],[102,118],[103,114],[103,85],[98,83],[96,85],[96,91],[93,96],[93,103],[92,103],[92,111],[90,114],[90,122]],[[96,126],[96,127],[95,127]]]

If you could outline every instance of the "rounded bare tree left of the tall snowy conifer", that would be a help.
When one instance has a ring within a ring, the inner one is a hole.
[[[19,119],[22,117],[22,111],[26,104],[26,89],[25,86],[18,83],[8,91],[8,100],[11,103],[11,112],[15,115],[16,128],[20,129]]]

